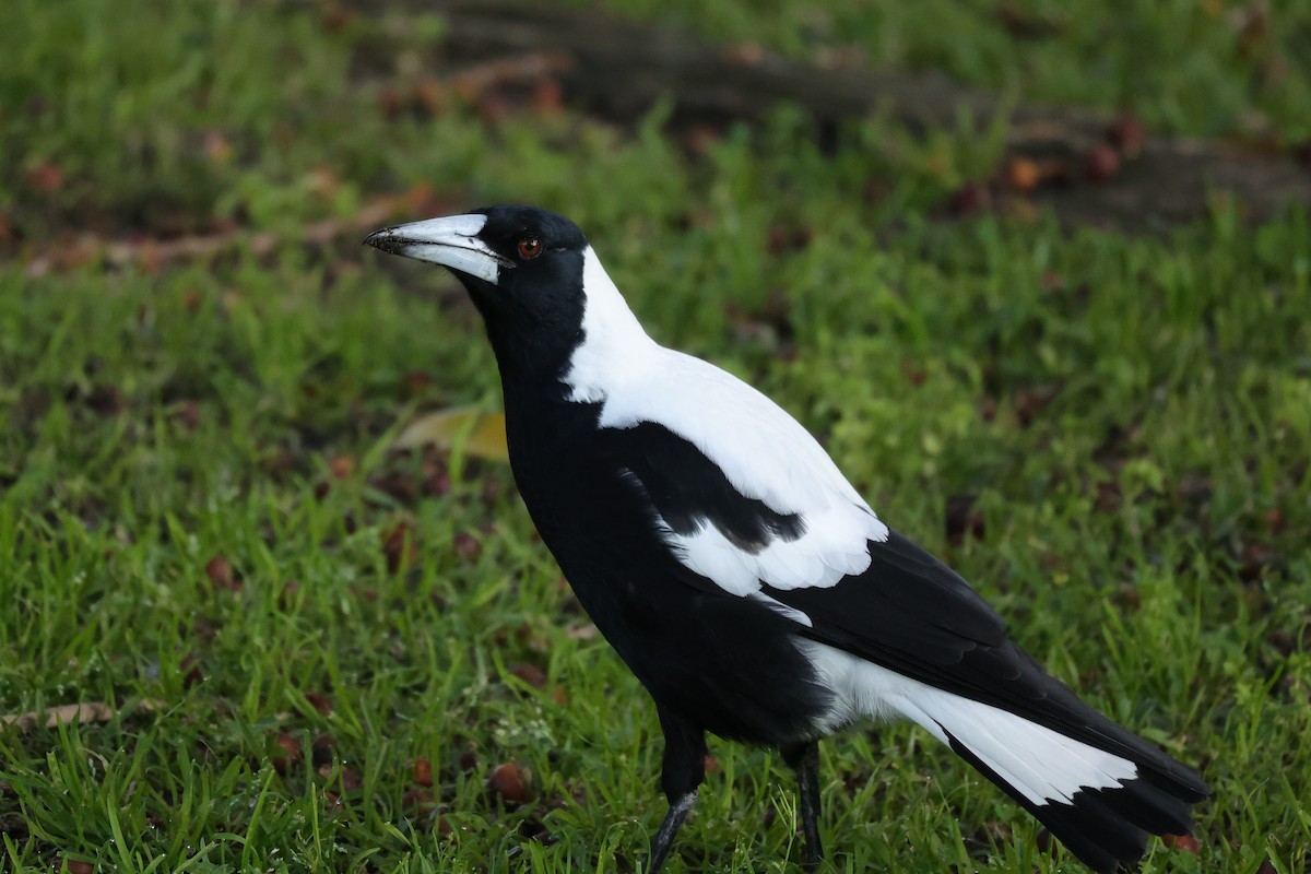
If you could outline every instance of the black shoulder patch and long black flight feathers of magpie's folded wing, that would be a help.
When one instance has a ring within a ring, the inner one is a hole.
[[[598,449],[624,470],[673,531],[716,525],[734,545],[759,552],[773,539],[805,533],[798,514],[742,495],[691,442],[662,425],[603,428]],[[1038,666],[1006,634],[1006,624],[956,571],[895,531],[869,542],[869,569],[831,587],[762,592],[804,612],[796,633],[863,659],[990,704],[1139,764],[1142,778],[1171,795],[1200,801],[1201,778],[1101,715]],[[701,592],[737,598],[676,562],[674,575]]]

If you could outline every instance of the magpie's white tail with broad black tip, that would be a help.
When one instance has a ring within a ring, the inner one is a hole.
[[[1186,835],[1201,777],[1087,708],[1055,680],[1068,732],[988,704],[923,687],[898,709],[1038,818],[1088,867],[1108,874],[1142,857],[1147,835]],[[1071,736],[1078,734],[1079,739]]]

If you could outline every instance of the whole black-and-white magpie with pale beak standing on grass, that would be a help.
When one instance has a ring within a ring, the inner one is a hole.
[[[572,221],[498,206],[366,242],[450,269],[482,314],[523,502],[665,732],[648,870],[707,731],[796,769],[814,869],[817,742],[867,718],[920,725],[1097,871],[1190,829],[1197,773],[1049,676],[773,401],[648,337]]]

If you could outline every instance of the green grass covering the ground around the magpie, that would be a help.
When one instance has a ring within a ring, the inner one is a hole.
[[[725,33],[804,50],[746,8],[725,4]],[[0,8],[0,714],[117,708],[0,729],[0,869],[645,864],[665,810],[654,712],[586,634],[509,470],[389,451],[422,410],[496,409],[476,314],[359,235],[300,242],[418,182],[452,210],[577,219],[658,339],[779,398],[1037,658],[1200,767],[1217,791],[1200,854],[1158,845],[1143,870],[1311,864],[1304,212],[1248,229],[1217,210],[1139,238],[944,224],[926,207],[987,159],[952,132],[869,124],[827,159],[781,110],[687,159],[658,115],[628,135],[568,113],[388,111],[380,96],[422,80],[391,56],[431,51],[435,18],[160,1],[143,29],[106,9]],[[1004,67],[1004,35],[961,9],[958,39],[907,18],[902,54],[878,58]],[[1277,43],[1304,34],[1304,9],[1274,20]],[[1092,29],[1118,63],[1172,22],[1072,21],[1057,45]],[[1013,68],[953,71],[1007,84],[1061,54],[1012,47]],[[1240,67],[1203,72],[1239,93]],[[1145,75],[1205,81],[1189,69],[1165,52]],[[1124,98],[1074,79],[1037,96]],[[1177,111],[1180,130],[1227,130]],[[47,164],[52,190],[34,181]],[[885,197],[852,195],[871,180]],[[30,269],[81,233],[233,227],[212,257]],[[265,231],[282,242],[257,252]],[[958,495],[983,533],[953,545]],[[787,769],[712,751],[682,870],[789,870]],[[486,786],[511,761],[531,772],[520,806]],[[850,731],[822,768],[830,870],[1079,870],[923,732]]]

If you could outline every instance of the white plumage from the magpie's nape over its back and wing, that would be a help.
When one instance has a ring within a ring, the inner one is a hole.
[[[801,537],[776,537],[753,553],[708,520],[690,535],[666,524],[663,537],[683,565],[739,596],[759,592],[762,582],[829,587],[869,567],[869,541],[886,541],[888,525],[796,419],[735,376],[650,339],[590,248],[583,294],[585,338],[565,377],[570,400],[600,402],[602,427],[669,428],[745,498],[805,525]]]

